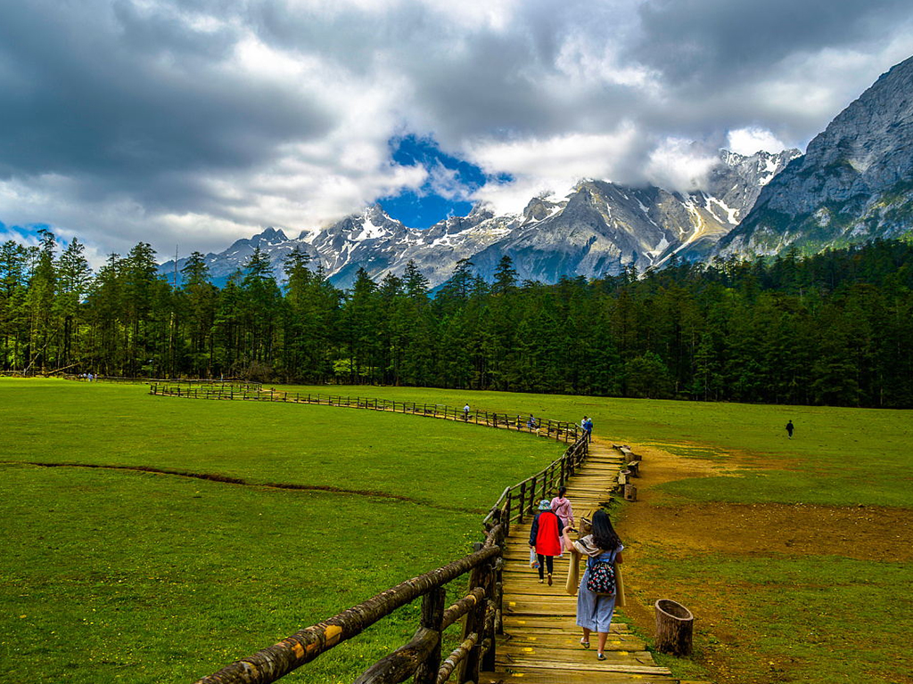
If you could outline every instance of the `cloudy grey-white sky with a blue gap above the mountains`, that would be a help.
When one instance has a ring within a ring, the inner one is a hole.
[[[908,0],[7,0],[0,239],[164,260],[372,202],[687,189],[911,55]]]

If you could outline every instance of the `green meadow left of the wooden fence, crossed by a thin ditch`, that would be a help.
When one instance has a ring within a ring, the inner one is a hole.
[[[196,679],[466,554],[501,490],[563,450],[444,420],[145,391],[0,379],[0,681]],[[298,678],[351,681],[417,611]]]

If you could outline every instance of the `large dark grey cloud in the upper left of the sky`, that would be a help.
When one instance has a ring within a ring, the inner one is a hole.
[[[323,134],[329,117],[306,98],[221,67],[236,40],[123,2],[5,9],[0,173],[181,205],[198,192],[194,171],[247,168]]]

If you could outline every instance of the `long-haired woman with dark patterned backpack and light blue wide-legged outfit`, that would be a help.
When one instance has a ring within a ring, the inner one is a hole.
[[[572,542],[568,528],[564,528],[563,540],[572,553],[569,586],[576,575],[578,561],[586,559],[586,570],[577,591],[577,625],[583,628],[581,646],[590,648],[590,635],[596,632],[599,635],[596,658],[604,660],[605,640],[609,636],[616,599],[619,606],[624,605],[624,592],[615,581],[614,568],[614,564],[622,562],[624,545],[614,531],[609,514],[604,511],[593,514],[592,534]]]

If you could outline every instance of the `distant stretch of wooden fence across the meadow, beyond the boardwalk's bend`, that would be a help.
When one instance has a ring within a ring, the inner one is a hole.
[[[278,401],[281,403],[319,404],[322,406],[344,407],[348,409],[371,409],[379,411],[392,411],[394,413],[409,413],[425,418],[440,418],[460,422],[485,425],[489,428],[517,430],[546,437],[552,440],[563,441],[565,444],[575,443],[583,435],[582,428],[566,420],[551,420],[548,418],[523,419],[519,415],[511,418],[509,413],[481,411],[477,409],[465,412],[463,409],[445,404],[428,404],[417,401],[396,401],[394,399],[368,399],[365,397],[352,397],[332,394],[311,394],[310,392],[286,392],[263,389],[257,384],[240,383],[212,383],[211,381],[180,382],[163,381],[152,382],[149,393],[160,397],[181,397],[183,399],[228,399],[242,401]]]

